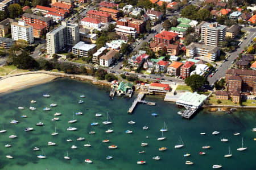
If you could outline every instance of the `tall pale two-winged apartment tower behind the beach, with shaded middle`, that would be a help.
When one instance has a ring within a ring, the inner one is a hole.
[[[61,25],[46,34],[47,53],[53,55],[59,52],[66,45],[74,46],[79,42],[79,26],[61,22]]]

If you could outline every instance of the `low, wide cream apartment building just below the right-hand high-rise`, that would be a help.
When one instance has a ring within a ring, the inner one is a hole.
[[[215,61],[219,55],[220,55],[219,47],[201,45],[198,43],[191,43],[186,48],[187,57],[203,56],[203,57],[207,57],[212,61]]]

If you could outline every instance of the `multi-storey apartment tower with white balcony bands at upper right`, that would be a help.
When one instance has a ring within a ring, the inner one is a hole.
[[[217,22],[206,22],[201,26],[201,41],[205,45],[217,46],[218,42],[223,41],[225,36],[226,26],[222,26]]]

